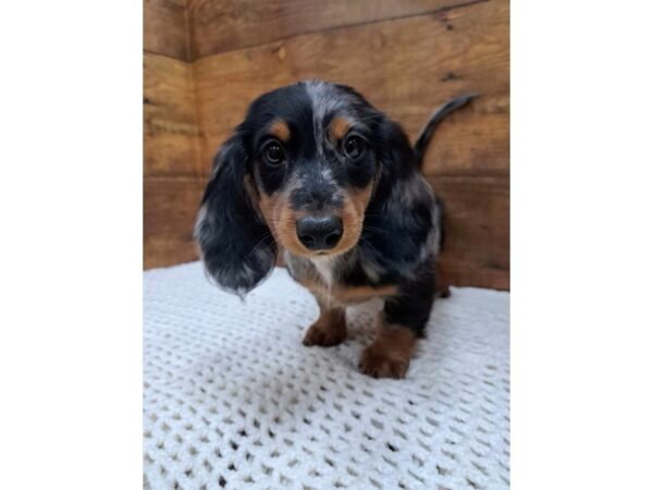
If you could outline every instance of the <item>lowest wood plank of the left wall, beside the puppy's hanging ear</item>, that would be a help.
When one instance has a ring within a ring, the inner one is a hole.
[[[187,177],[146,177],[144,181],[144,268],[196,260],[193,226],[202,183]]]

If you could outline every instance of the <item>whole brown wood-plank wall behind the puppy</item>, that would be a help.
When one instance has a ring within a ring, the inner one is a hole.
[[[215,149],[263,91],[356,87],[417,136],[447,98],[429,182],[448,209],[453,284],[509,287],[507,0],[150,0],[145,3],[145,267],[196,258],[194,215]]]

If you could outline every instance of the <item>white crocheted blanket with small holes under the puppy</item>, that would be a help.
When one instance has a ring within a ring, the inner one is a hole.
[[[282,269],[245,302],[198,262],[144,280],[144,485],[507,489],[509,294],[452,289],[408,376],[358,372],[373,313],[305,347],[312,296]],[[350,314],[350,315],[349,315]]]

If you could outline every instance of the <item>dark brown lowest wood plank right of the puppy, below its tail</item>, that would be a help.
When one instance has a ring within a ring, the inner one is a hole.
[[[440,176],[429,182],[446,206],[445,280],[452,285],[509,290],[509,179]]]

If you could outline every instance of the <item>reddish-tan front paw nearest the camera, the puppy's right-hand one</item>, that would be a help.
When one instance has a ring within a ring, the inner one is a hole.
[[[377,339],[362,351],[358,367],[373,378],[404,378],[416,343],[412,330],[399,324],[385,324],[381,313],[377,320]]]

